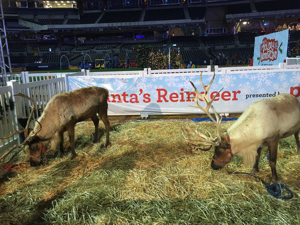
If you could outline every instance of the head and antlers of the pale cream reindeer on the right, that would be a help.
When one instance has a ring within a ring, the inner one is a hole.
[[[215,76],[215,74],[214,74]],[[203,112],[205,112],[208,117],[212,120],[212,122],[214,122],[214,124],[217,127],[217,137],[212,138],[211,134],[208,132],[209,136],[199,132],[198,127],[196,125],[195,122],[193,122],[192,120],[187,120],[187,128],[189,131],[192,132],[193,136],[195,136],[194,138],[192,138],[188,133],[187,130],[185,130],[184,127],[182,127],[182,133],[184,136],[184,141],[186,141],[187,143],[189,143],[192,147],[193,150],[202,150],[202,151],[208,151],[209,149],[211,149],[212,146],[214,146],[214,156],[212,158],[211,161],[211,168],[213,168],[214,170],[218,170],[223,168],[230,160],[231,160],[231,148],[230,148],[230,144],[229,144],[229,140],[227,139],[226,135],[221,137],[221,131],[220,131],[220,123],[222,120],[222,116],[221,118],[219,118],[217,111],[214,109],[214,107],[212,106],[212,102],[214,101],[214,98],[220,93],[220,91],[223,90],[223,88],[216,94],[214,95],[214,97],[209,100],[209,96],[208,96],[208,91],[209,88],[212,84],[212,82],[214,81],[214,76],[211,79],[211,82],[209,83],[208,86],[204,86],[203,82],[202,82],[202,73],[200,74],[200,82],[201,85],[204,89],[204,93],[201,94],[197,88],[195,87],[195,85],[193,84],[193,82],[190,81],[190,83],[192,84],[193,88],[195,89],[194,91],[185,91],[188,93],[195,93],[194,97],[190,97],[193,98],[195,105],[191,106],[191,107],[195,107],[198,108],[200,110],[202,110]],[[202,101],[204,101],[206,103],[206,107],[201,107],[198,104],[198,98]],[[211,108],[211,110],[214,112],[214,115],[216,116],[216,120],[211,116],[211,114],[208,112],[208,110]],[[193,125],[196,127],[196,130],[193,130],[190,127],[189,123],[193,123]],[[205,146],[205,148],[200,148],[199,146]],[[230,154],[230,155],[229,155]]]

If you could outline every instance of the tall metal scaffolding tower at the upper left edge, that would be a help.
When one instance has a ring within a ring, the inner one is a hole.
[[[1,7],[1,15],[0,19],[2,20],[2,28],[0,27],[0,67],[1,67],[1,86],[6,85],[7,82],[7,75],[10,76],[12,79],[11,73],[11,65],[10,65],[10,57],[9,57],[9,49],[7,44],[7,36],[6,36],[6,29],[5,29],[5,21],[3,15],[3,6],[2,0],[0,0],[0,7]],[[5,63],[6,61],[6,63]]]

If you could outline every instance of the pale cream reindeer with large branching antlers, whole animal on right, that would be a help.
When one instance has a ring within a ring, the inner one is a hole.
[[[194,150],[208,151],[214,146],[214,155],[211,161],[211,168],[214,170],[223,168],[231,161],[234,155],[243,156],[245,166],[255,161],[251,174],[259,172],[258,161],[260,151],[262,147],[267,146],[270,155],[269,165],[272,171],[272,184],[279,184],[280,180],[276,172],[279,139],[294,134],[297,144],[297,154],[300,154],[298,137],[300,130],[300,103],[297,98],[290,94],[280,94],[269,99],[258,100],[252,103],[238,120],[227,131],[221,134],[220,123],[222,117],[219,118],[212,106],[212,102],[223,88],[210,100],[208,90],[214,81],[214,76],[208,86],[203,85],[202,73],[200,81],[204,92],[200,93],[191,81],[190,83],[195,90],[186,92],[195,94],[194,97],[190,97],[195,102],[195,105],[191,107],[198,108],[208,115],[217,127],[218,136],[214,139],[211,137],[211,134],[206,136],[199,132],[195,122],[189,120],[187,121],[187,128],[195,137],[192,138],[187,133],[187,130],[182,127],[184,141],[189,143]],[[206,103],[206,107],[201,107],[198,104],[198,98]],[[214,112],[216,120],[208,112],[209,108]],[[196,126],[196,130],[190,127],[189,122],[192,122]],[[206,147],[199,148],[199,146]]]

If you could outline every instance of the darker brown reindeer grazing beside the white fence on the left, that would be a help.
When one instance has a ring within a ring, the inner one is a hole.
[[[44,112],[37,120],[37,123],[33,129],[29,129],[29,124],[35,110],[35,103],[26,95],[23,95],[21,93],[17,95],[27,98],[29,101],[31,101],[32,110],[29,119],[27,120],[25,129],[16,131],[10,136],[4,137],[3,139],[12,137],[15,134],[24,133],[25,140],[20,145],[16,145],[12,149],[8,150],[4,155],[1,156],[0,160],[6,158],[8,154],[10,154],[14,149],[17,149],[20,146],[22,146],[24,150],[26,145],[29,146],[31,166],[39,166],[46,162],[46,149],[49,145],[51,145],[51,148],[55,150],[56,146],[59,144],[60,149],[58,152],[58,157],[63,157],[64,131],[67,131],[69,135],[69,144],[71,147],[70,160],[73,160],[76,157],[74,146],[75,124],[77,122],[81,122],[88,118],[91,118],[95,125],[93,142],[96,143],[98,142],[99,126],[97,113],[101,117],[101,120],[103,121],[106,129],[105,147],[110,147],[110,122],[107,118],[107,89],[100,87],[86,87],[55,95],[47,103]]]

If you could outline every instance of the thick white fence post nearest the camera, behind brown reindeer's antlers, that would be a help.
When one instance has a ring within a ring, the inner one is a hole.
[[[19,88],[19,80],[11,80],[7,82],[7,86],[11,87],[11,95],[10,98],[11,100],[15,103],[15,108],[12,110],[13,115],[12,115],[12,121],[13,121],[13,126],[14,129],[19,131],[22,130],[23,127],[19,124],[18,118],[23,118],[23,113],[22,113],[22,103],[21,103],[21,97],[16,97],[13,95],[16,95],[19,93],[20,88]],[[21,136],[20,134],[17,135],[18,143],[20,144]]]

